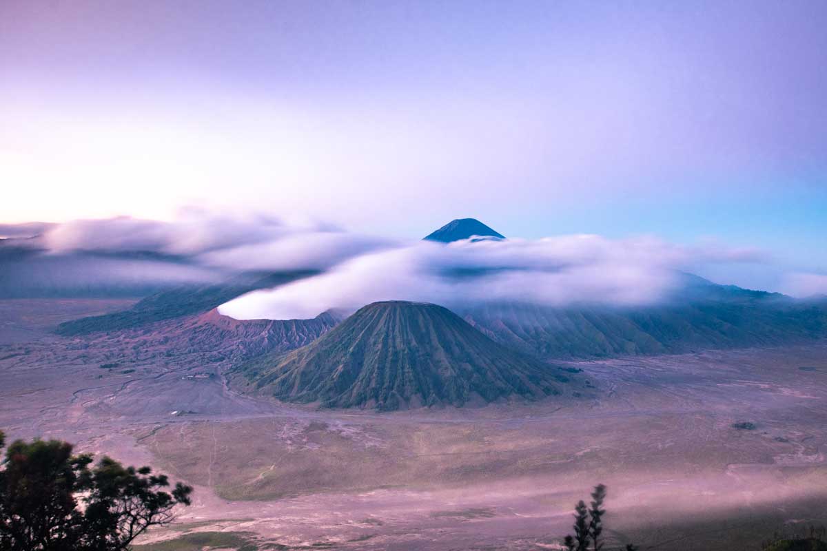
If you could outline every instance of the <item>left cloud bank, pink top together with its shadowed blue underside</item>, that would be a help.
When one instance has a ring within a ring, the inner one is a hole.
[[[83,292],[140,295],[241,272],[325,270],[390,245],[315,221],[214,216],[175,221],[127,216],[0,226],[0,296]],[[73,291],[74,290],[74,291]]]

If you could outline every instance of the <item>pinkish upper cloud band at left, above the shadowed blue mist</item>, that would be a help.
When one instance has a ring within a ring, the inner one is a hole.
[[[30,238],[16,244],[50,254],[151,253],[236,271],[323,269],[389,244],[317,221],[213,216],[201,211],[184,212],[175,221],[120,216],[5,225],[0,226],[0,235]]]

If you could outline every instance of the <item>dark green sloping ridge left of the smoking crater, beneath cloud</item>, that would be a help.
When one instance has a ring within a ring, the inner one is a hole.
[[[246,273],[213,285],[182,285],[146,297],[129,310],[67,321],[60,324],[57,333],[71,336],[97,331],[124,330],[156,321],[201,314],[246,292],[275,287],[311,274],[313,272],[274,273],[265,276]]]

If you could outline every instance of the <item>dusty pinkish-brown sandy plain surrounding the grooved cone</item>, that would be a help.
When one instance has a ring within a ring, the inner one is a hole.
[[[759,549],[827,523],[827,343],[568,363],[595,387],[579,400],[318,411],[233,392],[227,354],[163,330],[49,333],[116,306],[0,301],[0,428],[192,484],[147,544],[556,549],[598,482],[609,549]]]

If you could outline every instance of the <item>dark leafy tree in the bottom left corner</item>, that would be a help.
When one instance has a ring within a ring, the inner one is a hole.
[[[0,432],[0,447],[3,444]],[[59,440],[17,440],[0,470],[0,549],[115,551],[147,528],[168,524],[192,488],[151,468],[72,455]],[[82,506],[79,506],[82,505]]]

